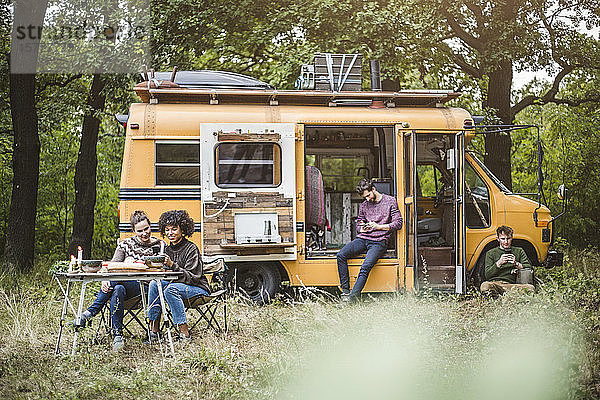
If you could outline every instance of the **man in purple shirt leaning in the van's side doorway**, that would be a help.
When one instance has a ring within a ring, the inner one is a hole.
[[[356,185],[356,191],[365,199],[358,209],[356,221],[358,235],[337,255],[343,301],[354,300],[360,295],[371,268],[387,250],[387,240],[390,235],[402,227],[402,215],[394,197],[379,193],[368,179],[361,179]],[[358,278],[350,291],[348,259],[364,252],[367,253],[365,261],[362,263]]]

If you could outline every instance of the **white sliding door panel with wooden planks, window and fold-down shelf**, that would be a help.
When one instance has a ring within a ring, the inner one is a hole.
[[[202,255],[295,260],[295,125],[200,125]]]

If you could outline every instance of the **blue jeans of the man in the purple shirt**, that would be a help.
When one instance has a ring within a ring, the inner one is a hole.
[[[337,254],[338,274],[340,275],[340,286],[342,289],[350,289],[350,274],[348,273],[348,259],[367,252],[365,261],[360,266],[358,278],[354,283],[350,296],[358,296],[367,283],[369,272],[373,265],[379,260],[387,250],[386,241],[375,241],[363,238],[356,238],[346,244]]]

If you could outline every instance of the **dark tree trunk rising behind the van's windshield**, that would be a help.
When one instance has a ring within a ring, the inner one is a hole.
[[[488,93],[484,99],[484,109],[493,109],[502,124],[511,124],[510,89],[512,84],[512,61],[506,60],[488,74]],[[512,190],[510,133],[490,133],[485,137],[485,165]]]

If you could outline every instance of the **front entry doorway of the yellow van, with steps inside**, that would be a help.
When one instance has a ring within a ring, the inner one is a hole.
[[[405,286],[465,293],[464,132],[399,129],[399,136],[404,167]],[[429,178],[441,184],[435,188],[435,201],[422,192],[426,181],[418,167],[427,165],[437,165],[434,171],[441,174],[441,182],[435,172]]]

